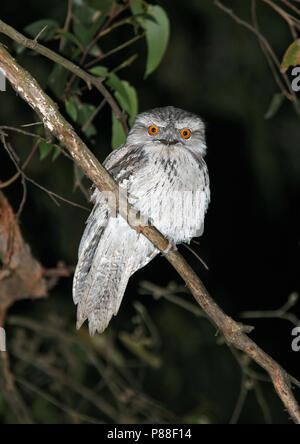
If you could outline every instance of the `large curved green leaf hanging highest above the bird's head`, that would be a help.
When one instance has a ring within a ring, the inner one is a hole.
[[[160,64],[170,36],[170,23],[164,9],[160,6],[151,6],[149,7],[149,13],[155,22],[153,20],[145,20],[143,24],[148,46],[145,77],[148,77]]]

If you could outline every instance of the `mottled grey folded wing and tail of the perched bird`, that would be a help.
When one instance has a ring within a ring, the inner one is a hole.
[[[133,180],[141,162],[139,149],[125,145],[113,151],[104,166],[122,184]],[[95,206],[80,243],[73,284],[77,327],[88,318],[91,334],[104,331],[118,312],[129,277],[149,262],[154,250],[121,216],[109,216],[107,201],[98,189],[92,200]]]

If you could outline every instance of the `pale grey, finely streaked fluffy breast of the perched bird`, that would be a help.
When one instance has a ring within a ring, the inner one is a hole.
[[[131,203],[176,243],[202,231],[207,207],[205,164],[173,148],[149,156],[130,181]]]

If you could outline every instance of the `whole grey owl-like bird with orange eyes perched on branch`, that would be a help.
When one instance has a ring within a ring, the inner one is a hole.
[[[210,203],[205,124],[196,114],[173,107],[137,115],[126,142],[103,163],[128,195],[129,203],[174,247],[204,231]],[[73,280],[77,329],[103,333],[117,315],[129,278],[160,252],[111,210],[95,188],[94,207],[82,236]],[[143,219],[144,220],[144,219]]]

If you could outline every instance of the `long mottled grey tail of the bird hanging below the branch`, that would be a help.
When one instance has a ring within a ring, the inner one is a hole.
[[[73,287],[77,328],[88,319],[91,335],[102,333],[117,314],[134,271],[136,233],[125,226],[124,236],[120,228],[120,218],[110,218],[100,237],[97,230],[91,233],[80,251]]]

